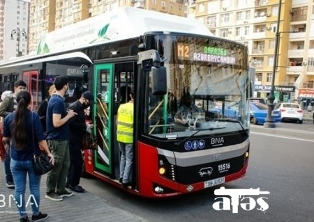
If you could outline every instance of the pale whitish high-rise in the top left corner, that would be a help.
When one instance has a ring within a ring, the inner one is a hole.
[[[28,53],[29,2],[24,0],[0,1],[0,60]]]

